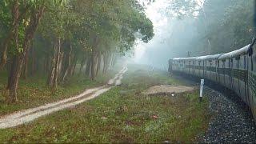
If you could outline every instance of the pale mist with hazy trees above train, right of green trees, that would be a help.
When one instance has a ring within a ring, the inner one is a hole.
[[[225,53],[250,43],[254,0],[194,2],[184,1],[182,6],[187,7],[182,11],[171,10],[173,3],[167,1],[148,6],[146,16],[153,22],[154,38],[148,43],[138,42],[130,61],[166,68],[170,58]]]

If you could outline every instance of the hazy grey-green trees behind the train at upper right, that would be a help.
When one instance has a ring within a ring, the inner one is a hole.
[[[195,25],[198,50],[218,54],[237,50],[252,42],[255,34],[254,0],[206,1]]]

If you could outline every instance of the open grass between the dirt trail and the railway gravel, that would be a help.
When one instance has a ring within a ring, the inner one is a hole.
[[[177,85],[166,73],[129,66],[123,85],[79,106],[0,130],[0,142],[196,142],[210,121],[208,101],[198,90],[145,96],[158,84]]]

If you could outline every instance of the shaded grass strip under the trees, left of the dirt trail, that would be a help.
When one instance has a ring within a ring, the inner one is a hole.
[[[10,114],[11,112],[40,106],[45,103],[55,102],[63,98],[81,93],[83,90],[94,86],[106,84],[108,78],[113,77],[114,72],[106,75],[99,75],[96,81],[90,81],[83,74],[70,78],[65,84],[58,86],[57,90],[50,90],[46,86],[46,77],[36,75],[27,79],[22,79],[18,86],[18,102],[14,104],[6,103],[6,82],[7,74],[0,74],[0,115]]]

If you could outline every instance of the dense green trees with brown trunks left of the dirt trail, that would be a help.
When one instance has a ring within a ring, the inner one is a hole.
[[[6,102],[17,102],[21,78],[46,76],[54,90],[74,75],[91,80],[132,53],[135,33],[154,36],[153,24],[136,0],[0,1],[0,70],[7,71]]]

